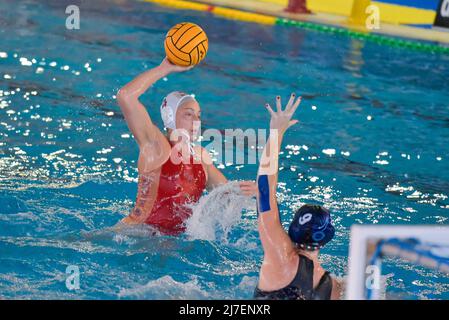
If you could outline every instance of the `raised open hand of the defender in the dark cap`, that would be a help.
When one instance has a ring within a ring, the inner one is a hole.
[[[280,134],[285,133],[288,128],[292,125],[298,123],[298,120],[292,120],[292,116],[301,103],[301,97],[296,99],[295,94],[292,93],[290,96],[290,100],[288,101],[284,110],[282,110],[281,97],[276,97],[276,111],[273,111],[271,106],[267,103],[265,107],[270,112],[271,120],[270,120],[270,129],[278,130]]]

